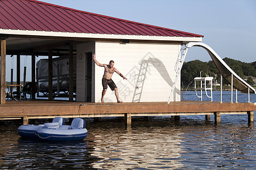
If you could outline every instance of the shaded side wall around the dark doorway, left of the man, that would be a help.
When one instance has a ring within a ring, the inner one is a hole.
[[[85,68],[85,54],[92,52],[94,53],[95,49],[95,42],[86,42],[84,44],[79,44],[77,45],[77,80],[76,80],[76,91],[77,91],[77,97],[76,101],[86,101],[85,99],[85,75],[86,75],[86,68]],[[81,55],[81,59],[79,58]],[[92,102],[95,101],[95,87],[94,87],[94,82],[95,82],[95,76],[94,76],[94,62],[92,65]]]

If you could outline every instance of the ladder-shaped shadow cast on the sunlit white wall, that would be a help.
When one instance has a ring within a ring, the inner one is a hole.
[[[147,67],[148,67],[148,62],[146,60],[143,60],[141,62],[141,68],[139,69],[138,79],[137,79],[137,83],[136,83],[134,95],[133,95],[133,102],[136,102],[136,101],[139,102],[141,100],[143,84],[144,84],[144,80],[146,79]]]

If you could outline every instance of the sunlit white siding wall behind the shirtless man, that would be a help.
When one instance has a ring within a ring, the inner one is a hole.
[[[172,83],[175,81],[175,63],[179,54],[180,44],[150,44],[133,43],[121,44],[119,42],[95,42],[96,59],[100,63],[115,62],[114,67],[122,73],[127,80],[114,73],[112,79],[119,90],[119,98],[124,102],[132,102],[135,84],[137,83],[140,63],[148,63],[146,79],[142,88],[140,102],[168,101]],[[95,64],[94,64],[95,65]],[[77,69],[79,70],[79,69]],[[101,101],[104,67],[95,67],[95,101]],[[179,81],[180,82],[180,81]],[[177,87],[180,87],[177,84]],[[177,91],[179,93],[179,91]],[[135,97],[138,99],[139,95]],[[135,100],[134,99],[134,100]],[[108,87],[104,97],[105,102],[116,102],[114,91]],[[180,101],[180,96],[175,95],[172,101]]]

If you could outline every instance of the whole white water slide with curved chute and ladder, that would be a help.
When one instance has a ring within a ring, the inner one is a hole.
[[[174,86],[172,87],[168,103],[170,103],[171,96],[173,96],[173,94],[174,94],[175,85],[176,85],[177,79],[179,78],[179,75],[181,73],[181,68],[183,66],[183,62],[184,62],[185,56],[187,54],[187,50],[189,48],[191,48],[192,46],[200,46],[200,47],[204,48],[205,50],[207,50],[207,52],[209,53],[213,62],[215,63],[218,71],[220,71],[222,77],[228,83],[230,83],[232,85],[232,87],[236,88],[237,90],[239,90],[243,93],[250,94],[250,92],[252,92],[252,93],[254,92],[254,94],[256,94],[255,89],[253,87],[251,87],[250,84],[246,83],[245,80],[243,80],[240,76],[238,76],[236,73],[234,73],[234,71],[232,69],[230,69],[230,67],[221,59],[221,57],[218,56],[218,54],[216,52],[214,52],[214,50],[212,48],[210,48],[210,46],[208,46],[207,44],[204,44],[203,42],[189,42],[185,46],[183,56],[181,57],[181,59],[179,59],[179,58],[177,59],[177,63],[176,63],[177,76],[175,78],[175,83],[174,83]]]

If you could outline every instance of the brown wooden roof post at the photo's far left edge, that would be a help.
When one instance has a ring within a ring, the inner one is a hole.
[[[6,93],[6,40],[1,38],[1,99],[0,104],[5,104]]]

